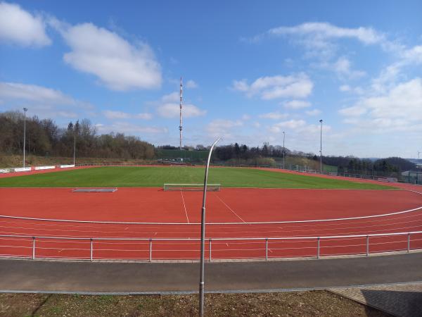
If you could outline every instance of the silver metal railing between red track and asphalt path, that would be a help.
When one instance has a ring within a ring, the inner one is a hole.
[[[413,231],[413,232],[391,232],[391,233],[378,233],[378,234],[368,234],[368,235],[331,235],[331,236],[315,236],[315,237],[215,237],[215,238],[207,238],[208,242],[208,261],[212,261],[212,242],[218,242],[218,241],[242,241],[242,242],[263,242],[265,245],[264,253],[262,256],[254,257],[253,259],[265,259],[268,261],[268,259],[271,258],[269,256],[269,242],[302,242],[302,240],[308,240],[312,241],[314,240],[316,242],[316,245],[314,247],[314,258],[319,259],[321,257],[321,243],[323,240],[333,240],[333,239],[354,239],[354,238],[364,238],[366,240],[366,249],[364,252],[355,252],[354,254],[366,254],[366,256],[369,256],[371,254],[371,244],[370,244],[370,238],[371,237],[394,237],[394,236],[404,236],[407,237],[407,246],[400,249],[395,250],[384,250],[384,251],[376,251],[373,253],[383,253],[383,252],[389,252],[389,251],[407,251],[408,253],[411,251],[411,235],[417,235],[422,234],[422,231]],[[65,259],[89,259],[89,261],[95,261],[96,256],[95,252],[97,251],[94,248],[94,242],[110,242],[110,241],[132,241],[132,242],[144,242],[146,244],[149,244],[148,249],[145,249],[143,251],[148,251],[149,256],[139,258],[139,260],[143,261],[150,261],[152,262],[154,260],[153,257],[153,242],[200,242],[200,238],[125,238],[125,237],[49,237],[49,236],[29,236],[29,235],[0,235],[1,238],[14,238],[14,239],[27,239],[32,240],[32,256],[28,256],[27,254],[21,254],[21,255],[15,255],[14,257],[30,257],[31,259],[56,259],[53,256],[40,256],[37,254],[37,242],[41,242],[42,240],[53,240],[53,241],[84,241],[89,243],[89,249],[77,249],[77,250],[83,250],[88,251],[89,250],[89,257],[88,256],[75,256],[75,257],[65,257]],[[422,241],[422,239],[418,239],[418,241]],[[403,242],[403,241],[399,241]],[[378,243],[378,244],[388,244],[388,243],[399,243],[399,242],[384,242],[384,243]],[[11,246],[1,246],[0,250],[11,247]],[[350,245],[337,245],[335,247],[350,247]],[[27,247],[25,247],[27,248]],[[43,249],[43,248],[39,248]],[[50,249],[59,249],[59,248],[50,248]],[[300,249],[300,248],[299,248]],[[302,247],[302,249],[309,249],[309,247]],[[422,249],[422,244],[418,244],[418,247],[414,249]],[[61,249],[65,250],[65,249]],[[101,251],[101,250],[98,250]],[[104,251],[104,250],[102,250]],[[121,249],[115,249],[113,251],[123,251]],[[196,249],[190,249],[190,250],[182,250],[182,251],[198,251]],[[230,249],[227,250],[218,250],[218,251],[231,251]],[[248,250],[244,250],[248,251]],[[332,256],[332,255],[345,255],[347,253],[339,253],[339,254],[326,254],[326,256]],[[349,255],[349,254],[347,254]],[[0,256],[6,256],[4,254],[0,254]],[[8,256],[10,257],[10,256]],[[273,258],[288,258],[290,256],[274,256]],[[63,257],[62,257],[63,259]],[[110,258],[114,260],[120,260],[122,258]],[[178,258],[180,259],[180,258]],[[233,259],[231,256],[227,256],[225,259]],[[251,259],[247,256],[240,258],[240,259]],[[97,258],[97,260],[101,260]],[[162,258],[160,258],[162,260]],[[168,260],[171,260],[171,257],[168,257]],[[222,260],[222,258],[219,258],[219,260]]]

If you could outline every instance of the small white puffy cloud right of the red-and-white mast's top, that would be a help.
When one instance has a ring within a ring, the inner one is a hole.
[[[312,93],[314,84],[309,77],[300,73],[289,76],[266,76],[257,78],[251,85],[246,80],[234,80],[233,89],[246,96],[259,95],[261,99],[306,98]]]

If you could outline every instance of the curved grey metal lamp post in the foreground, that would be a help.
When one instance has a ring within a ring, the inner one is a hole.
[[[207,199],[207,181],[208,181],[208,168],[210,168],[210,159],[212,149],[214,149],[215,144],[219,142],[221,137],[215,140],[212,143],[210,148],[210,153],[208,154],[207,166],[205,167],[205,178],[204,178],[204,190],[203,190],[203,206],[201,209],[201,218],[200,218],[200,277],[199,277],[199,316],[204,316],[204,261],[205,261],[205,200]]]

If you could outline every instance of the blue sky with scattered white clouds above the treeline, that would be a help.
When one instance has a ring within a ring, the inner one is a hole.
[[[153,144],[422,151],[421,1],[0,2],[0,111]]]

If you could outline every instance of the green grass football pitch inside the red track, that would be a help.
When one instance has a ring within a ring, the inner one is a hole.
[[[98,167],[0,178],[0,187],[162,187],[164,183],[200,183],[203,177],[204,168]],[[210,168],[209,182],[222,187],[392,189],[253,168]]]

